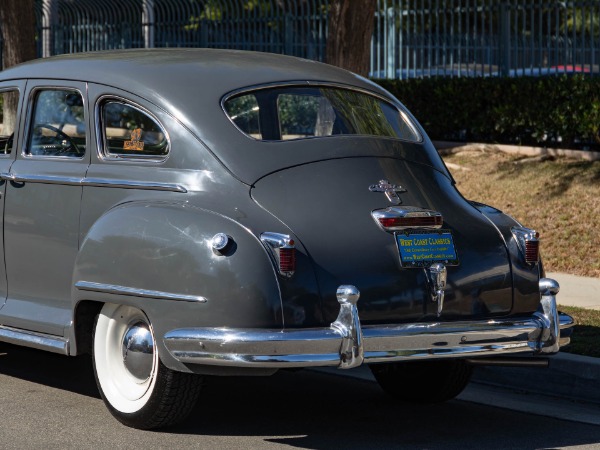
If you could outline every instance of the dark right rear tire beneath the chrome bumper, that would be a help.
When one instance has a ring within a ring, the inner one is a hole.
[[[471,379],[465,361],[419,361],[369,366],[379,386],[394,398],[412,403],[440,403],[460,394]]]

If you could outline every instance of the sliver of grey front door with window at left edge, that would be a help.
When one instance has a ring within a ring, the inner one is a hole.
[[[24,90],[25,81],[0,83],[0,226],[4,222],[4,198],[7,184],[2,174],[9,173],[10,166],[15,160]],[[4,241],[0,239],[0,255],[3,252]],[[4,258],[0,258],[0,309],[6,302],[6,295],[6,266]]]

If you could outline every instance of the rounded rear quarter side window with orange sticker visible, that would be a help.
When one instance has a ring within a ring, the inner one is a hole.
[[[169,153],[167,133],[140,108],[107,100],[100,114],[105,156],[163,159]]]

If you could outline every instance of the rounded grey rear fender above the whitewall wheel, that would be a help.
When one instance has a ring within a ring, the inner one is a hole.
[[[217,233],[231,237],[222,253],[212,249]],[[162,344],[174,328],[283,326],[277,276],[259,239],[189,204],[126,203],[101,216],[82,242],[73,299],[73,310],[88,300],[144,311],[163,362],[176,370],[186,369]]]

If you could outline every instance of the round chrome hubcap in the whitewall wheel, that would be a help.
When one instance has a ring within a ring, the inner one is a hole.
[[[154,339],[147,323],[136,322],[123,336],[123,364],[140,382],[152,375]]]

